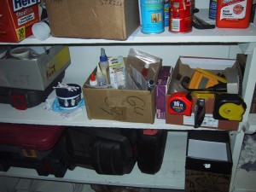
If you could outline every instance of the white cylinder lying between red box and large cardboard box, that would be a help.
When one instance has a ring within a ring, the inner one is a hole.
[[[32,26],[33,35],[38,38],[38,40],[44,41],[50,36],[49,20],[44,19]]]

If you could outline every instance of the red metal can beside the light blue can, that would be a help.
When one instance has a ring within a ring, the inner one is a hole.
[[[194,0],[170,0],[170,32],[191,32]]]

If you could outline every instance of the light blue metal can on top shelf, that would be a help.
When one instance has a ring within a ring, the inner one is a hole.
[[[164,0],[140,0],[140,13],[143,33],[165,31]]]

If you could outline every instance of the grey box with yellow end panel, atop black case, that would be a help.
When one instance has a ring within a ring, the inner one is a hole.
[[[44,90],[70,64],[67,46],[52,46],[38,59],[0,60],[0,86]]]

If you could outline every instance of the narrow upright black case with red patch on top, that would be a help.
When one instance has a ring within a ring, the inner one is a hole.
[[[160,171],[166,149],[166,130],[140,130],[137,143],[137,166],[143,173]]]

